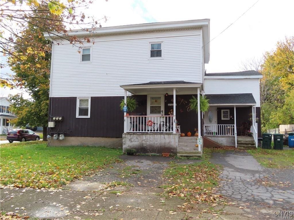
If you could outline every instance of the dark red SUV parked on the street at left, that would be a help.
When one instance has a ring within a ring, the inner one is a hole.
[[[9,143],[14,141],[39,141],[40,136],[29,129],[14,129],[7,133]]]

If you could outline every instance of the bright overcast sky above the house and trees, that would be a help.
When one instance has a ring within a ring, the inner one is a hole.
[[[94,0],[87,13],[96,18],[107,16],[108,21],[101,22],[103,27],[210,18],[213,39],[256,1]],[[293,36],[293,9],[293,0],[259,0],[210,43],[207,72],[240,71],[242,62],[262,57],[275,48],[277,41]],[[1,88],[1,96],[9,92]]]

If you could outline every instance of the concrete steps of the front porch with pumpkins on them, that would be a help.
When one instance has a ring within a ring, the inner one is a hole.
[[[180,137],[178,142],[177,155],[179,157],[201,157],[201,151],[198,151],[197,137]]]

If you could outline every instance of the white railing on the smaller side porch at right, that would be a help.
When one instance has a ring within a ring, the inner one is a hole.
[[[205,124],[204,135],[234,136],[235,126],[233,124]]]

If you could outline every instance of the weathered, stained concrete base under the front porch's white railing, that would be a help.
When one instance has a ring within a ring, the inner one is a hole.
[[[136,149],[137,153],[177,153],[179,134],[123,133],[123,152]]]

